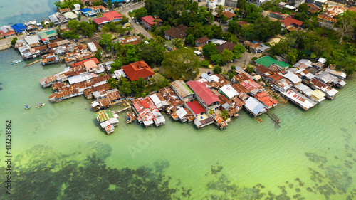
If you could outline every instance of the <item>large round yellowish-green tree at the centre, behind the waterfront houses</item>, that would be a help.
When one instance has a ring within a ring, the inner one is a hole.
[[[188,48],[179,48],[164,55],[164,75],[177,80],[192,80],[199,74],[199,58]]]

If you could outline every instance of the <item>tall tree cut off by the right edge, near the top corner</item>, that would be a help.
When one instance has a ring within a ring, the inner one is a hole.
[[[342,38],[347,33],[355,33],[356,26],[356,12],[354,11],[345,11],[342,14],[337,16],[337,23],[335,24],[337,28],[339,28],[338,32],[340,33],[340,41],[342,42]]]

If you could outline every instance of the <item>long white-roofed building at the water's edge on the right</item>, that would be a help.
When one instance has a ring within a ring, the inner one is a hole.
[[[311,107],[314,107],[317,104],[317,102],[310,100],[309,98],[305,97],[305,95],[298,93],[295,88],[286,90],[286,92],[282,93],[282,95],[284,98],[294,102],[304,110],[309,110]]]

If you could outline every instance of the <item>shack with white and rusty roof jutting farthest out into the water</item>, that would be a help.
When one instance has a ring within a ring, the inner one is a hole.
[[[96,119],[100,123],[100,126],[105,130],[106,134],[110,135],[114,132],[115,127],[119,125],[119,116],[110,110],[102,110],[95,112]]]

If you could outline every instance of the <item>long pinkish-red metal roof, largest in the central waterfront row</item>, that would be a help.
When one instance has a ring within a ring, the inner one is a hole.
[[[205,83],[199,81],[189,81],[187,83],[189,88],[192,88],[194,93],[196,93],[201,100],[203,100],[206,105],[211,105],[214,102],[220,102],[218,96],[216,96],[209,88],[206,88]]]

